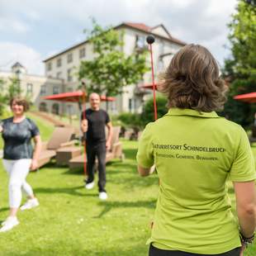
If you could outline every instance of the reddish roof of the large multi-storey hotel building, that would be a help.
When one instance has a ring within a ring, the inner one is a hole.
[[[167,32],[168,37],[160,36],[160,35],[158,35],[158,34],[152,32],[152,30],[154,30],[156,27],[159,27],[159,26],[162,26],[162,27],[164,28],[164,31]],[[173,42],[173,43],[175,43],[175,44],[178,44],[178,45],[181,45],[181,46],[187,45],[187,43],[183,42],[182,40],[178,40],[178,39],[174,38],[173,36],[171,36],[171,35],[169,34],[168,30],[165,28],[165,26],[164,26],[163,24],[160,24],[160,25],[158,25],[158,26],[153,26],[153,27],[151,27],[151,26],[145,25],[144,23],[123,22],[123,23],[121,23],[121,24],[118,25],[118,26],[114,26],[114,29],[117,30],[117,29],[120,29],[120,28],[122,28],[122,27],[132,28],[132,29],[135,29],[135,30],[137,30],[137,31],[143,31],[143,32],[148,33],[148,34],[150,33],[150,34],[152,34],[152,35],[154,35],[154,36],[156,36],[156,37],[162,38],[162,39],[164,39],[164,40],[171,41],[171,42]],[[78,44],[76,44],[76,45],[73,45],[73,46],[71,46],[71,47],[69,47],[69,48],[67,48],[67,49],[65,49],[65,50],[62,50],[61,52],[59,52],[59,53],[56,54],[56,55],[52,55],[52,56],[50,56],[49,58],[44,59],[43,62],[46,62],[46,61],[48,61],[48,60],[50,60],[50,59],[54,59],[54,58],[56,58],[56,57],[58,57],[58,56],[60,56],[60,55],[63,55],[64,53],[68,52],[69,50],[73,50],[73,49],[79,47],[80,45],[84,45],[84,44],[87,43],[87,42],[88,42],[88,40],[83,40],[82,42],[80,42],[80,43],[78,43]]]

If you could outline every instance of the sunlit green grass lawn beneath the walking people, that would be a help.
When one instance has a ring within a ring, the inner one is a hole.
[[[43,139],[53,127],[31,116]],[[140,178],[136,171],[136,141],[123,141],[126,160],[107,164],[109,200],[99,201],[97,188],[86,191],[83,170],[48,164],[30,173],[40,206],[19,212],[21,224],[0,234],[0,255],[147,255],[149,222],[158,197],[156,175]],[[254,149],[256,154],[256,149]],[[234,191],[230,188],[234,201]],[[8,212],[7,175],[0,164],[0,221]],[[256,255],[255,246],[245,255]]]

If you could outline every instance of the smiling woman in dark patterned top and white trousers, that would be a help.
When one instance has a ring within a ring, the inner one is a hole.
[[[0,132],[4,140],[2,164],[9,175],[9,205],[10,213],[7,220],[2,222],[0,232],[11,230],[19,224],[17,211],[21,205],[21,189],[26,193],[28,201],[21,206],[21,210],[38,206],[31,186],[26,183],[26,176],[30,169],[37,168],[40,154],[41,140],[36,124],[26,118],[24,112],[28,110],[28,103],[21,98],[13,98],[10,102],[13,116],[1,121]],[[35,150],[31,139],[35,142]]]

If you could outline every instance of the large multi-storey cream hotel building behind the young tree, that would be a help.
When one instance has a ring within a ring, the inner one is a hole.
[[[149,36],[149,34],[154,35],[153,56],[156,76],[168,66],[173,54],[185,45],[182,40],[174,38],[164,25],[149,27],[142,23],[126,22],[114,27],[114,29],[123,32],[124,45],[121,50],[126,55],[130,55],[138,48],[148,47],[145,40],[146,36]],[[80,61],[83,59],[93,59],[92,45],[88,40],[84,40],[45,59],[45,77],[49,81],[61,81],[60,79],[63,79],[64,83],[59,84],[59,92],[75,91],[79,85],[76,73],[78,72]],[[150,65],[150,59],[147,59],[147,62]],[[150,93],[147,93],[145,89],[141,89],[141,86],[148,83],[152,83],[150,72],[145,73],[144,79],[140,83],[124,88],[124,93],[116,97],[116,102],[110,103],[109,111],[111,113],[141,111],[142,104]],[[47,86],[47,84],[45,85]],[[51,84],[51,88],[46,89],[47,93],[52,92],[53,83],[50,82],[49,84]],[[43,103],[44,101],[40,102],[40,104]],[[45,101],[45,106],[47,106],[48,110],[51,109],[50,105],[52,105],[52,102]],[[78,111],[77,104],[64,103],[62,111],[74,114]]]

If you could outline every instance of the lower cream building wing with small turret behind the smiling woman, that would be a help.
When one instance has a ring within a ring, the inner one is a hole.
[[[63,79],[29,74],[26,68],[18,62],[12,66],[11,71],[0,70],[0,78],[4,81],[4,91],[7,90],[12,78],[18,78],[21,86],[21,94],[24,97],[28,97],[40,111],[50,111],[56,114],[64,111],[64,103],[45,102],[43,99],[47,95],[63,92]]]

